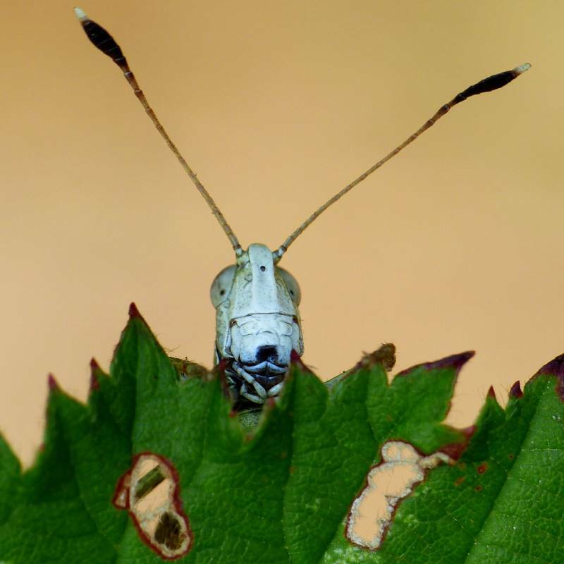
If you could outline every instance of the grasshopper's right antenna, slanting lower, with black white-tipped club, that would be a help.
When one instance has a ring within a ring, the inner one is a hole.
[[[529,65],[529,63],[525,63],[521,66],[515,67],[512,71],[505,71],[503,73],[498,73],[496,75],[489,76],[488,78],[484,78],[484,80],[480,80],[476,84],[468,87],[466,90],[463,90],[459,94],[456,94],[456,96],[452,100],[450,100],[450,102],[441,106],[439,110],[436,112],[436,114],[434,114],[434,116],[429,118],[413,135],[407,137],[407,139],[401,145],[398,145],[398,147],[396,147],[396,149],[393,149],[391,153],[388,153],[386,157],[384,157],[384,159],[381,159],[374,166],[371,166],[367,171],[363,172],[358,178],[355,178],[353,182],[346,185],[345,188],[341,190],[341,192],[337,192],[336,195],[334,195],[331,198],[331,200],[327,200],[327,202],[325,202],[321,207],[319,207],[315,212],[313,212],[313,214],[310,215],[302,223],[302,225],[300,225],[300,227],[298,227],[298,229],[296,229],[290,235],[290,237],[288,237],[288,239],[286,239],[284,243],[282,243],[282,245],[278,247],[276,251],[274,251],[273,253],[274,261],[278,262],[278,260],[281,259],[282,255],[286,252],[286,250],[288,250],[288,247],[296,240],[298,235],[303,233],[305,231],[305,228],[307,228],[307,226],[309,226],[309,224],[312,223],[314,219],[320,216],[329,206],[331,206],[331,204],[334,204],[339,198],[343,197],[347,192],[349,192],[349,190],[353,190],[353,188],[355,188],[357,184],[360,184],[362,180],[364,180],[364,178],[367,178],[367,176],[369,176],[378,168],[380,168],[384,163],[389,161],[392,157],[396,157],[396,154],[398,154],[402,149],[407,147],[407,145],[409,145],[411,142],[415,141],[417,137],[419,137],[419,135],[421,135],[424,131],[427,131],[431,127],[431,125],[433,125],[436,121],[438,121],[439,118],[443,117],[448,112],[448,110],[450,110],[450,108],[452,108],[456,104],[459,104],[460,102],[464,102],[464,100],[470,98],[470,96],[475,96],[476,94],[482,94],[483,92],[490,92],[491,90],[497,90],[498,88],[505,86],[513,79],[517,78],[517,76],[527,71],[527,69],[530,67],[531,66]]]

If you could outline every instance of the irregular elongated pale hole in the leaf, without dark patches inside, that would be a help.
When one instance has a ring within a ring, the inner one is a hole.
[[[367,485],[353,501],[347,517],[348,540],[370,550],[380,548],[398,505],[431,468],[441,462],[453,463],[445,453],[423,456],[410,443],[388,441],[382,447],[382,461],[367,475]]]

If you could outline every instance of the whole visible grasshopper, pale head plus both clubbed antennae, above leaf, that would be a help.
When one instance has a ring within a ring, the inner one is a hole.
[[[290,367],[292,351],[298,356],[304,352],[298,311],[300,286],[288,271],[278,266],[288,247],[329,206],[415,141],[453,106],[475,94],[501,88],[530,68],[529,63],[525,63],[511,71],[484,78],[456,94],[403,143],[319,207],[278,249],[271,251],[266,245],[253,243],[247,250],[243,250],[212,196],[168,137],[157,115],[149,106],[114,38],[104,27],[90,20],[80,8],[75,8],[75,15],[94,46],[121,68],[145,112],[207,202],[233,247],[235,263],[221,270],[216,276],[212,283],[211,298],[216,309],[215,362],[217,364],[224,361],[233,400],[238,405],[260,405],[267,398],[278,396]]]

